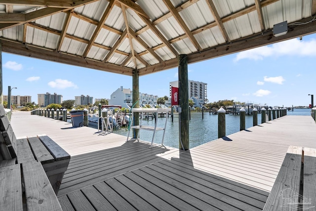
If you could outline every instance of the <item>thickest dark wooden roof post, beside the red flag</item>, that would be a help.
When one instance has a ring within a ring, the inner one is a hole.
[[[185,150],[190,149],[189,143],[189,80],[188,80],[188,55],[180,54],[178,57],[178,76],[179,76],[179,113],[180,133],[179,138],[182,141]],[[180,142],[180,141],[179,141]],[[181,143],[179,143],[181,149]]]

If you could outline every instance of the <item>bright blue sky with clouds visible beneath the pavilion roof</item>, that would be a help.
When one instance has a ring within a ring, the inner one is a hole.
[[[207,83],[209,102],[234,99],[269,106],[308,106],[316,94],[316,35],[279,42],[188,65],[189,80]],[[63,100],[90,95],[110,98],[120,86],[132,89],[132,77],[33,59],[2,52],[3,94],[63,95]],[[169,82],[178,80],[173,68],[139,77],[139,90],[163,97]],[[316,104],[316,96],[315,96]]]

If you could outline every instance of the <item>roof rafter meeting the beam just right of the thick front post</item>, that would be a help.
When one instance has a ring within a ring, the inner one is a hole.
[[[197,51],[201,51],[202,50],[201,46],[198,44],[198,42],[195,39],[194,35],[190,31],[190,29],[188,28],[188,26],[186,25],[186,23],[184,22],[184,20],[182,19],[182,17],[180,16],[178,11],[176,10],[176,8],[173,6],[171,1],[170,0],[163,0],[163,2],[168,7],[169,11],[172,13],[173,17],[177,20],[177,22],[179,23],[181,28],[184,30],[184,32],[186,33],[186,35],[188,36],[190,41],[197,48]]]

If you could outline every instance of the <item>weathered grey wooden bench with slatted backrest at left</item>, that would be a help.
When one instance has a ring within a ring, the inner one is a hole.
[[[46,135],[16,139],[3,106],[0,130],[0,210],[61,210],[56,195],[70,155]]]

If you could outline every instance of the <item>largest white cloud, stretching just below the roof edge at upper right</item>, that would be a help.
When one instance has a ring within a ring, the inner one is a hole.
[[[297,38],[239,52],[234,61],[237,62],[241,59],[262,60],[264,57],[278,57],[284,55],[315,56],[315,49],[315,39],[300,41]]]

